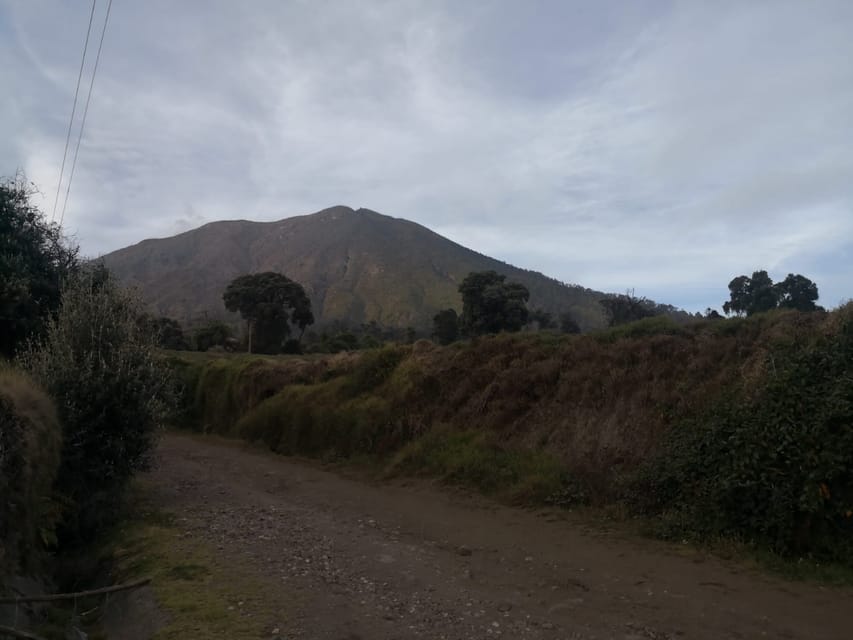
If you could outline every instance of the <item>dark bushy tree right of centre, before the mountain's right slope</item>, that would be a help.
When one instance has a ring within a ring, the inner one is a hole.
[[[530,292],[495,271],[472,271],[459,285],[460,328],[467,336],[519,331],[527,324]]]

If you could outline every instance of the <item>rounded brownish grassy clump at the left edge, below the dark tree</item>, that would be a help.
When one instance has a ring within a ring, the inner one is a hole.
[[[61,441],[51,400],[23,373],[0,366],[0,575],[36,568],[53,540]]]

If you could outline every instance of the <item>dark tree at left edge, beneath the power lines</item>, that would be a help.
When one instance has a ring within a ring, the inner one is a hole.
[[[63,281],[78,267],[78,249],[32,204],[22,175],[0,183],[0,355],[38,337],[59,308]]]

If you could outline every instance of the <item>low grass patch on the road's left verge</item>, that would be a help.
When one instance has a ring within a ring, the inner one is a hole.
[[[290,599],[181,531],[172,514],[154,509],[135,488],[134,515],[106,545],[117,581],[150,577],[166,623],[153,640],[263,638],[281,626]]]

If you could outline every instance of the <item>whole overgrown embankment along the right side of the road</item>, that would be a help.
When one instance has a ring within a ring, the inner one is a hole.
[[[853,564],[853,307],[317,358],[172,357],[185,426],[668,538]]]

